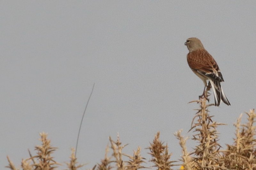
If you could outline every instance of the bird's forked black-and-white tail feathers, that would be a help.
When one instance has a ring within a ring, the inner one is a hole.
[[[212,91],[214,94],[215,106],[219,106],[221,101],[223,101],[226,105],[230,105],[223,89],[220,85],[219,81],[209,80],[212,85]]]

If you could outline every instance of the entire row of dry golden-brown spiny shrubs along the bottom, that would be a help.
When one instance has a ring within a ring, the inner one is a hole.
[[[140,155],[140,147],[136,151],[133,151],[133,155],[123,153],[122,150],[126,145],[122,145],[119,136],[117,136],[116,141],[109,137],[110,146],[106,148],[105,158],[101,159],[100,163],[95,165],[91,170],[137,170],[141,168],[172,170],[174,166],[176,166],[175,169],[186,170],[256,169],[256,114],[254,109],[246,113],[247,123],[245,124],[241,124],[242,115],[240,115],[234,124],[236,127],[234,143],[227,144],[226,150],[221,150],[221,146],[218,143],[219,133],[216,128],[224,124],[217,123],[213,120],[213,116],[208,111],[208,108],[212,104],[207,105],[206,99],[193,102],[197,102],[200,105],[192,120],[190,129],[193,130],[192,140],[195,140],[197,143],[195,148],[191,152],[188,152],[186,147],[188,138],[184,138],[181,135],[181,130],[174,134],[181,146],[181,164],[174,164],[177,161],[171,160],[172,154],[168,151],[168,145],[159,139],[160,133],[157,132],[153,142],[146,148],[149,150],[148,154],[151,155],[149,161],[153,165],[152,167],[145,167],[147,164],[146,160]],[[35,156],[32,156],[29,152],[30,158],[22,159],[21,168],[23,170],[59,169],[61,165],[54,161],[51,156],[56,148],[50,145],[47,134],[40,133],[40,136],[42,145],[35,147],[37,152]],[[108,156],[109,150],[111,150],[111,156]],[[74,149],[72,149],[70,162],[66,163],[68,170],[85,169],[83,167],[84,165],[76,162],[74,152]],[[7,160],[9,162],[9,165],[6,166],[7,168],[18,170],[8,156]]]

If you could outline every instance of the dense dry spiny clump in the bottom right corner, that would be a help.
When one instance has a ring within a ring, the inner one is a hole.
[[[256,169],[256,114],[254,109],[248,116],[247,123],[240,125],[241,117],[237,119],[236,124],[236,138],[234,144],[227,144],[227,150],[223,151],[222,162],[228,169]]]

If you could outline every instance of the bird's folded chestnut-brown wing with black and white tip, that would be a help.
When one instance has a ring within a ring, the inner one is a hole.
[[[188,53],[188,65],[199,74],[216,81],[224,81],[219,66],[205,49]]]

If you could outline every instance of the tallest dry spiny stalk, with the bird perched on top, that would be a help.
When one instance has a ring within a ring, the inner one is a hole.
[[[193,169],[222,169],[219,164],[220,157],[220,144],[217,142],[218,132],[216,130],[217,126],[224,125],[223,123],[217,123],[212,121],[212,117],[209,115],[208,107],[213,104],[206,105],[206,100],[208,97],[208,91],[210,86],[207,86],[205,92],[205,98],[197,100],[200,103],[200,109],[193,118],[191,129],[195,129],[195,135],[193,135],[192,140],[197,141],[198,145],[194,149],[194,156],[192,157],[194,164]],[[197,122],[194,120],[197,118]],[[189,131],[190,131],[189,130]]]

